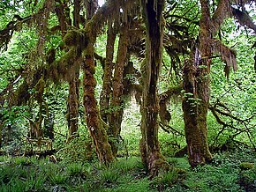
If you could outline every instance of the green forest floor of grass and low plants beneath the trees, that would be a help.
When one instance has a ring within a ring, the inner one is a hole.
[[[256,191],[255,153],[215,154],[191,169],[186,158],[169,158],[171,168],[149,180],[139,157],[97,162],[51,162],[49,158],[0,157],[0,191]]]

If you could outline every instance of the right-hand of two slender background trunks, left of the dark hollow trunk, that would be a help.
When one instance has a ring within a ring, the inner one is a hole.
[[[120,37],[117,51],[117,63],[115,64],[115,72],[112,85],[112,100],[110,107],[112,108],[109,118],[109,136],[113,155],[117,155],[117,140],[121,131],[121,123],[124,114],[124,65],[127,62],[127,46],[128,46],[128,24],[124,23],[120,27]]]

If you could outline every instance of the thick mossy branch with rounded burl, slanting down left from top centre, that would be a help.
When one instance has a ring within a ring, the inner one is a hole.
[[[82,56],[82,53],[87,49],[89,44],[94,44],[96,37],[102,32],[102,27],[108,20],[119,17],[120,8],[132,6],[136,3],[135,0],[109,1],[104,4],[91,18],[84,29],[69,30],[64,36],[64,43],[68,47],[72,47],[62,58],[55,63],[55,68],[65,70],[63,66],[69,66]],[[56,75],[55,75],[56,76]]]

